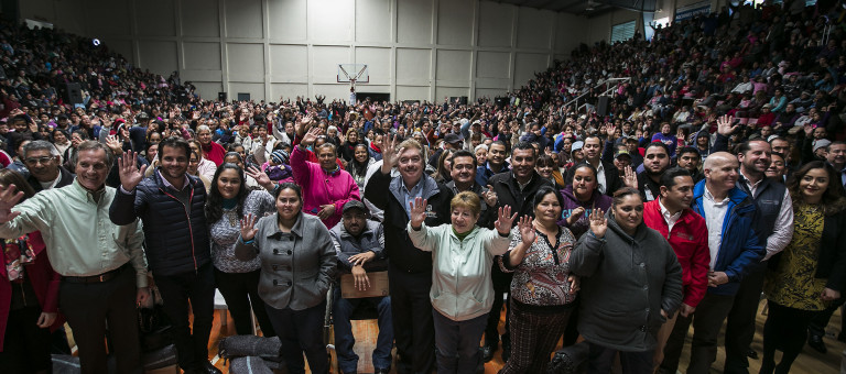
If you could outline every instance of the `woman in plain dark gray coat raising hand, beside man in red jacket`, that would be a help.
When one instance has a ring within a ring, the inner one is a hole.
[[[615,193],[607,216],[590,213],[570,268],[582,277],[578,331],[590,344],[588,372],[610,373],[619,352],[623,373],[652,373],[658,329],[682,304],[682,266],[643,224],[637,189]]]

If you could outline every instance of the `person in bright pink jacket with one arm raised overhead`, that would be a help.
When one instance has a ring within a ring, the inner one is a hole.
[[[337,165],[335,145],[323,143],[315,147],[319,163],[306,161],[306,147],[317,141],[323,130],[312,128],[291,154],[294,182],[303,186],[303,211],[317,216],[327,228],[340,221],[341,208],[349,200],[360,200],[358,184],[347,170]]]

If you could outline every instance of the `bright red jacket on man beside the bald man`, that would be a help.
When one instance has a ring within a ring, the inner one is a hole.
[[[692,209],[684,209],[673,226],[673,232],[668,232],[669,226],[661,213],[659,199],[655,199],[643,205],[643,223],[666,238],[675,251],[682,265],[682,302],[695,308],[708,287],[711,252],[705,219]]]

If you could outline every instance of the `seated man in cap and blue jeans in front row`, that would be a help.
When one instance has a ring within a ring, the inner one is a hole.
[[[391,297],[344,298],[340,290],[341,274],[352,274],[355,288],[367,290],[372,286],[368,273],[388,270],[384,231],[381,223],[368,219],[370,215],[361,201],[347,201],[341,216],[341,221],[329,230],[335,253],[338,256],[332,304],[338,369],[344,374],[356,373],[358,354],[352,350],[356,339],[352,336],[350,317],[356,308],[370,304],[376,307],[379,315],[379,336],[372,353],[373,369],[377,374],[387,374],[391,371],[391,349],[393,348]]]

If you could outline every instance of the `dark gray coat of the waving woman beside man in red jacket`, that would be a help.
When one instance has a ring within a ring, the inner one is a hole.
[[[582,235],[570,267],[582,277],[578,331],[592,343],[644,352],[682,302],[682,266],[658,231],[641,223],[629,237],[608,213],[603,240]]]

